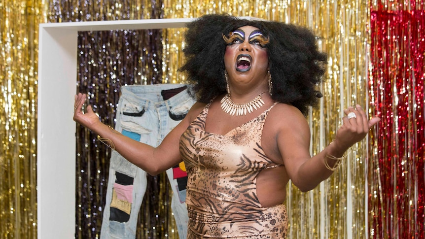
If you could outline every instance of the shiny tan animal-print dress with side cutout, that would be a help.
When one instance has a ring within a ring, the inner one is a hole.
[[[187,239],[285,238],[285,205],[262,207],[256,194],[258,173],[273,163],[261,148],[261,134],[275,104],[226,135],[205,131],[207,104],[181,136],[188,173]]]

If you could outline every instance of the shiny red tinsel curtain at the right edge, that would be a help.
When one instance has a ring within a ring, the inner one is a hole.
[[[371,236],[424,238],[424,1],[371,4]],[[375,179],[375,180],[373,180]]]

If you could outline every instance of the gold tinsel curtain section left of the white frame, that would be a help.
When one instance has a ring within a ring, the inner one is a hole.
[[[36,105],[42,1],[0,0],[0,235],[37,237]]]

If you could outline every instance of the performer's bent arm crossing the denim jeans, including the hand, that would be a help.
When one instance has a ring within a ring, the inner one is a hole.
[[[189,126],[192,115],[199,113],[195,112],[196,109],[194,110],[196,106],[192,107],[186,117],[164,138],[161,144],[158,147],[152,147],[123,136],[100,122],[90,105],[87,106],[87,112],[83,113],[81,107],[85,101],[85,94],[79,93],[75,96],[74,121],[93,131],[99,137],[112,141],[118,153],[151,175],[166,171],[181,162],[178,148],[180,136]],[[195,105],[199,106],[199,104]]]

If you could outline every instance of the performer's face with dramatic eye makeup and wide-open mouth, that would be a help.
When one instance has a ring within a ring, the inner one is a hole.
[[[229,78],[244,81],[267,79],[268,38],[258,28],[244,26],[223,36],[227,43],[224,65]]]

